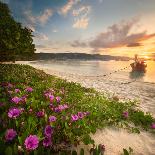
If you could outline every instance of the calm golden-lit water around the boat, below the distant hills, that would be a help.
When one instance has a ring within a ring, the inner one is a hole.
[[[155,83],[155,61],[147,61],[146,73],[131,72],[132,61],[35,61],[33,65],[43,68],[87,76],[102,76],[104,74],[118,79],[136,79]],[[127,67],[127,68],[126,68]],[[125,69],[124,69],[125,68]],[[112,73],[112,74],[110,74]],[[108,76],[107,76],[108,77]]]

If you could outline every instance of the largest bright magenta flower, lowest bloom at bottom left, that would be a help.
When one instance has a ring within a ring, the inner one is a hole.
[[[30,135],[25,139],[25,147],[27,150],[35,150],[38,147],[39,139],[36,135]]]

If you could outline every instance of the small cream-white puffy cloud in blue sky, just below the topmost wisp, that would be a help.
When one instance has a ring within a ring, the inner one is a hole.
[[[74,16],[73,28],[86,29],[89,24],[89,13],[90,6],[82,6],[79,9],[73,10],[72,15]]]

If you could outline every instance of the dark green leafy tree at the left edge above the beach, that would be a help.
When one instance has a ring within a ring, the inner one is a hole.
[[[11,16],[7,4],[0,2],[0,61],[30,58],[35,51],[32,30]]]

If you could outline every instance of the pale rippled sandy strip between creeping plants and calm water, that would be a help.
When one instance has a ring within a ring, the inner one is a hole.
[[[21,63],[21,62],[20,62]],[[24,63],[25,64],[25,63]],[[45,73],[60,77],[69,82],[76,82],[86,88],[94,88],[95,90],[105,93],[108,97],[117,96],[120,100],[136,100],[139,108],[144,112],[150,112],[155,117],[155,83],[133,81],[128,84],[129,80],[124,80],[125,84],[121,84],[120,79],[89,77],[74,73],[66,73],[43,67],[35,64],[26,63],[32,67],[43,70]]]

